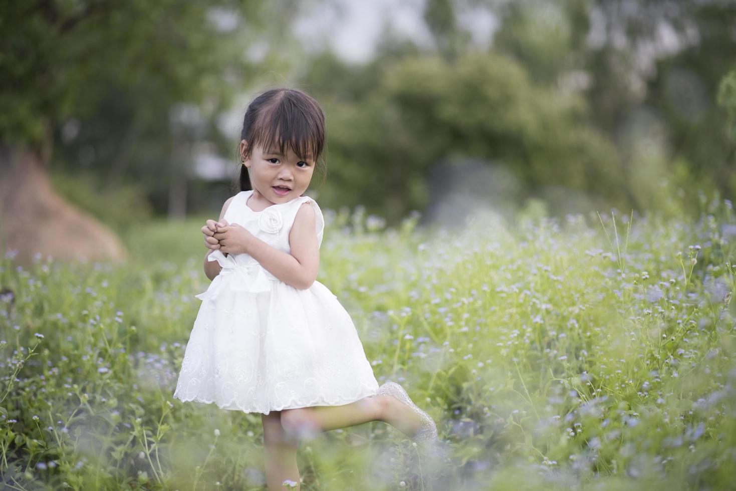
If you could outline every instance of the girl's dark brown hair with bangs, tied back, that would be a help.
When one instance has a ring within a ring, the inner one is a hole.
[[[282,155],[289,145],[301,159],[311,153],[324,182],[325,163],[320,158],[325,149],[325,113],[307,93],[291,88],[272,88],[261,93],[245,111],[240,139],[247,141],[248,156],[256,145],[278,148]],[[240,188],[252,189],[244,165],[240,169]]]

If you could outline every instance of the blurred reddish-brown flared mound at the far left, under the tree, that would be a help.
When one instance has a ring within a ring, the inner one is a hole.
[[[0,147],[0,246],[27,266],[35,255],[54,261],[121,261],[128,257],[116,234],[66,202],[46,165],[29,149]]]

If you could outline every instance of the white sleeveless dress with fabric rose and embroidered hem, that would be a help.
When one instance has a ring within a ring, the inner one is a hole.
[[[289,231],[300,206],[316,215],[319,246],[325,219],[308,196],[253,211],[241,191],[225,211],[258,239],[291,252]],[[307,406],[342,406],[376,395],[378,381],[350,315],[314,281],[296,289],[247,253],[210,253],[222,271],[194,320],[174,398],[216,403],[221,409],[269,414]]]

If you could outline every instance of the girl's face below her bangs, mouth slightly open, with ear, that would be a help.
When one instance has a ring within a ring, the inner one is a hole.
[[[241,141],[240,146],[244,165],[250,169],[253,189],[269,202],[285,203],[307,190],[315,165],[311,155],[302,160],[290,148],[286,149],[286,155],[281,155],[277,148],[264,149],[257,145],[253,146],[249,158],[243,153],[246,141]]]

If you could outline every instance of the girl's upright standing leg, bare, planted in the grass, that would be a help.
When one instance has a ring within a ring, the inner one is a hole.
[[[263,422],[263,458],[269,491],[300,490],[297,449],[299,442],[289,438],[281,425],[281,411],[261,414]],[[283,481],[296,481],[297,487],[283,487]]]

